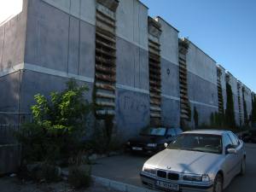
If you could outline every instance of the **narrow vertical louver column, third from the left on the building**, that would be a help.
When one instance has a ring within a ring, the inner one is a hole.
[[[178,63],[179,63],[179,88],[180,88],[180,113],[181,120],[189,120],[190,104],[188,94],[187,77],[187,53],[189,40],[181,38],[178,41]]]

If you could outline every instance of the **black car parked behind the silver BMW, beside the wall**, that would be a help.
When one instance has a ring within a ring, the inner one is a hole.
[[[141,131],[138,137],[131,138],[126,143],[126,151],[143,154],[155,154],[165,149],[166,144],[180,135],[180,128],[150,127]]]

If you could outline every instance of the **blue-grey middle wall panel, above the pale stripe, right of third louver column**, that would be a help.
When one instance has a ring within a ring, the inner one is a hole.
[[[213,105],[218,108],[218,88],[194,73],[188,73],[189,100]]]

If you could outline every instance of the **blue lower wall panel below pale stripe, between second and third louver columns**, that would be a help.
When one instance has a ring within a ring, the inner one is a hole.
[[[162,97],[161,120],[166,127],[179,126],[180,102]]]

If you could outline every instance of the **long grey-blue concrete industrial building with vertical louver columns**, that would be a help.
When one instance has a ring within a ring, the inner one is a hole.
[[[0,26],[0,48],[2,112],[29,113],[35,94],[70,78],[88,85],[90,101],[96,89],[96,114],[113,114],[124,137],[150,124],[194,126],[195,108],[209,125],[225,109],[227,81],[236,125],[252,110],[251,90],[138,0],[23,0]]]

